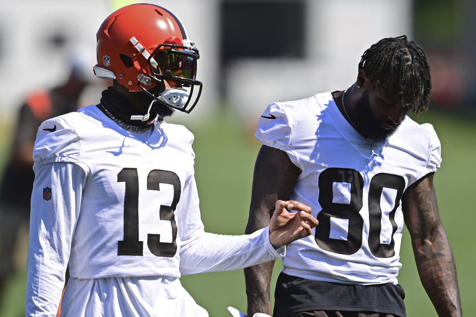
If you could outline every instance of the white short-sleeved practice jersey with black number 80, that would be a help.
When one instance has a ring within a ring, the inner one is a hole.
[[[291,199],[312,208],[313,234],[288,246],[283,272],[336,283],[397,283],[404,219],[401,198],[441,163],[430,124],[406,117],[371,144],[344,118],[332,94],[268,106],[256,138],[301,169]]]

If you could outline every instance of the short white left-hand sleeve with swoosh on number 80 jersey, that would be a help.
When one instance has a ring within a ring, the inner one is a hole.
[[[293,150],[292,125],[285,110],[279,105],[271,104],[266,108],[259,118],[254,136],[263,145],[286,152],[291,161],[299,167],[297,155]]]

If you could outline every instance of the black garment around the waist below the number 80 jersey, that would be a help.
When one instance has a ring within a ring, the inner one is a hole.
[[[300,312],[329,311],[334,315],[327,316],[332,317],[339,316],[335,315],[335,312],[370,312],[383,314],[380,316],[405,317],[404,298],[405,292],[398,284],[338,284],[308,280],[281,272],[276,283],[273,316],[286,317]]]

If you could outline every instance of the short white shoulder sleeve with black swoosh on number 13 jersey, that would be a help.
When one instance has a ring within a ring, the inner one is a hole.
[[[80,137],[64,116],[46,120],[40,125],[33,149],[33,159],[35,161],[33,170],[54,162],[75,163],[85,171],[89,170],[81,160]]]

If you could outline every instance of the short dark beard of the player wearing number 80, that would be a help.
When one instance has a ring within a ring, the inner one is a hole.
[[[372,109],[370,109],[367,92],[364,92],[358,99],[354,108],[354,117],[359,131],[365,138],[373,142],[383,142],[387,140],[400,126],[397,125],[386,130],[379,125],[379,122],[373,116]]]

